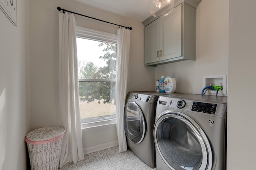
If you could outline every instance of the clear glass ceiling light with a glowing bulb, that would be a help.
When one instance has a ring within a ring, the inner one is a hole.
[[[154,17],[167,16],[173,11],[175,0],[149,0],[150,14]]]

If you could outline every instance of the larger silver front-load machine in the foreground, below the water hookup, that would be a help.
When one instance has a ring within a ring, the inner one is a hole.
[[[227,97],[158,98],[154,142],[158,170],[226,169]]]

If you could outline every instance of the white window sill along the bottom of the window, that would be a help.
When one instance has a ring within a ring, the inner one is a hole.
[[[106,121],[96,121],[92,123],[83,123],[81,125],[82,132],[93,131],[97,129],[104,129],[107,127],[114,127],[114,126],[116,126],[116,119],[110,119]]]

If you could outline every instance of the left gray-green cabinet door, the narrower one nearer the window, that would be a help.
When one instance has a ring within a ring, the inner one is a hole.
[[[159,61],[160,56],[160,19],[153,21],[145,27],[145,59],[144,63]]]

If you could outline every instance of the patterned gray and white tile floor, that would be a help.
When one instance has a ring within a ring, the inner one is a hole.
[[[84,160],[68,162],[59,170],[155,170],[131,150],[118,152],[118,146],[84,155]]]

